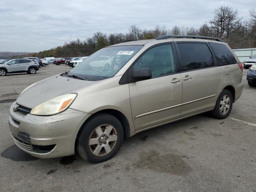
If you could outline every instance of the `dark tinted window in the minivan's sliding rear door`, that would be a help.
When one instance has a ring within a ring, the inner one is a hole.
[[[205,43],[178,43],[182,71],[214,66],[212,54]]]

